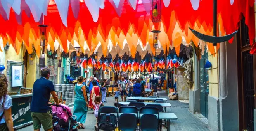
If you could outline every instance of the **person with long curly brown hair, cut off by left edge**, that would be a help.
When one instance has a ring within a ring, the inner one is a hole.
[[[0,74],[0,131],[14,131],[12,119],[12,97],[7,95],[7,78]]]

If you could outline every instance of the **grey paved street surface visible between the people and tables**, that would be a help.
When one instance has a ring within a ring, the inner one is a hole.
[[[167,97],[165,92],[158,92],[158,95],[159,97]],[[121,97],[119,99],[121,99]],[[108,102],[104,104],[105,106],[114,106],[114,97],[107,97],[107,101]],[[178,120],[170,121],[171,131],[209,131],[208,125],[204,124],[197,116],[190,113],[188,103],[182,103],[178,100],[168,100],[168,102],[171,103],[172,107],[167,108],[167,111],[175,113],[178,117]],[[73,112],[73,107],[71,107],[71,111]],[[88,111],[84,124],[85,129],[79,129],[79,131],[94,131],[96,118],[92,113],[93,111]],[[33,125],[19,129],[18,131],[33,131]],[[163,131],[166,131],[166,128],[163,127]]]

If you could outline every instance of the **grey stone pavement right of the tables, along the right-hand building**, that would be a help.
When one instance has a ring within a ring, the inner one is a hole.
[[[158,97],[167,97],[165,91],[157,94]],[[171,108],[167,108],[167,111],[175,113],[178,117],[178,120],[170,121],[171,131],[209,131],[208,125],[189,111],[189,103],[182,103],[178,100],[168,100],[167,102],[171,103]]]

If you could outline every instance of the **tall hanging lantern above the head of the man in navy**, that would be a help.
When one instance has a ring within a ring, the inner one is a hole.
[[[40,68],[45,68],[45,40],[46,40],[46,27],[47,25],[38,25],[40,31],[40,46],[42,46],[42,54],[39,57]]]

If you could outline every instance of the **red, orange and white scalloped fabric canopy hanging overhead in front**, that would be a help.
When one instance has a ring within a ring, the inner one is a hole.
[[[181,43],[186,46],[200,43],[189,27],[212,35],[213,0],[161,0],[161,3],[162,22],[153,23],[151,0],[1,0],[0,42],[4,46],[7,42],[12,44],[17,54],[23,43],[29,54],[34,47],[39,55],[38,25],[45,24],[48,49],[69,52],[69,45],[79,44],[88,56],[96,49],[105,57],[109,53],[119,55],[124,50],[135,57],[137,52],[155,53],[152,30],[161,31],[160,50],[175,48],[177,55]],[[242,15],[253,44],[254,0],[218,0],[221,32],[218,35],[237,30]],[[206,45],[212,54],[216,52],[212,44]]]

